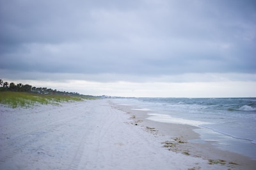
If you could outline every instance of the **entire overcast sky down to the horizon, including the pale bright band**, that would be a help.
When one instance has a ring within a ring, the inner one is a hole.
[[[0,0],[0,79],[84,95],[256,97],[256,1]]]

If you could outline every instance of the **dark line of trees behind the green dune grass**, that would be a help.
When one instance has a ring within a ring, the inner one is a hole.
[[[15,84],[11,82],[4,82],[0,79],[0,91],[22,91],[28,93],[38,93],[42,95],[68,95],[68,96],[82,96],[79,93],[74,92],[66,92],[66,91],[57,91],[56,89],[48,89],[48,88],[36,88],[32,87],[29,84]]]

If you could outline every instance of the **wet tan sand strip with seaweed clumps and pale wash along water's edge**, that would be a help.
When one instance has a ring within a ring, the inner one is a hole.
[[[235,169],[254,169],[256,166],[256,160],[239,153],[220,150],[212,145],[214,141],[191,142],[191,140],[203,140],[200,138],[200,134],[195,132],[196,129],[200,130],[201,127],[152,121],[148,119],[150,117],[148,114],[154,113],[153,111],[147,111],[135,105],[115,104],[113,101],[111,101],[111,105],[130,114],[134,120],[134,125],[143,128],[152,135],[168,136],[170,140],[163,141],[162,144],[164,148],[170,151],[183,153],[191,157],[200,157],[209,160],[209,164],[221,164]]]

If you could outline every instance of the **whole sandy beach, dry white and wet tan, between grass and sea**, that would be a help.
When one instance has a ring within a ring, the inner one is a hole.
[[[190,125],[148,120],[111,99],[12,109],[0,105],[0,169],[253,169]]]

